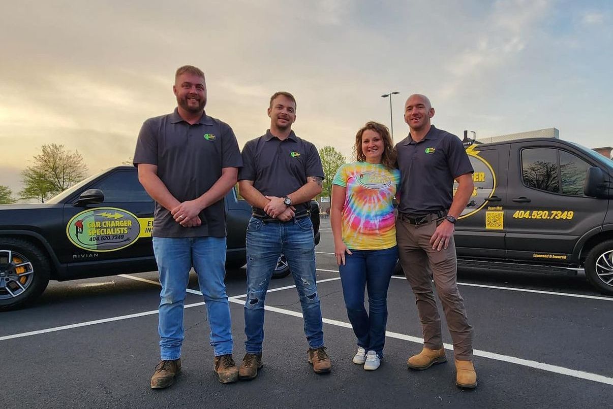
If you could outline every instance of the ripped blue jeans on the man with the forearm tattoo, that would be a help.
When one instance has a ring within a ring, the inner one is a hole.
[[[315,272],[315,243],[311,219],[264,222],[251,217],[247,227],[247,299],[245,301],[245,350],[262,352],[264,301],[279,256],[287,258],[302,305],[305,335],[310,348],[324,345],[321,309]]]

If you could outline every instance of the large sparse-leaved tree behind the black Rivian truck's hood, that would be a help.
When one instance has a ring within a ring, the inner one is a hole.
[[[43,145],[41,151],[41,154],[34,156],[34,165],[21,173],[24,186],[21,197],[35,198],[43,203],[82,181],[87,174],[87,166],[79,152],[66,151],[64,145]]]

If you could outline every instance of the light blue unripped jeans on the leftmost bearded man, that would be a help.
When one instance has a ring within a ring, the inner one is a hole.
[[[210,344],[215,356],[232,353],[230,306],[226,295],[226,238],[153,238],[158,262],[159,349],[161,359],[178,359],[183,344],[183,306],[189,271],[198,274],[198,284],[207,305]]]

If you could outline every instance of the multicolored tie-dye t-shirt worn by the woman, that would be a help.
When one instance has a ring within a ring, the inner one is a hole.
[[[383,250],[396,245],[394,204],[400,171],[352,162],[338,168],[333,184],[346,189],[343,242],[349,249]]]

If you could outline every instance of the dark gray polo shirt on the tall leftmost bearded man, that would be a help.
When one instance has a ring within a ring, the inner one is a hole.
[[[190,125],[178,114],[147,119],[140,129],[134,152],[134,165],[150,163],[158,167],[158,176],[178,201],[193,200],[215,184],[222,168],[243,165],[232,128],[206,113]],[[211,204],[199,214],[202,225],[182,227],[170,211],[155,204],[155,237],[225,237],[224,200]]]

